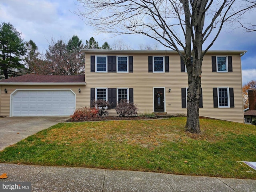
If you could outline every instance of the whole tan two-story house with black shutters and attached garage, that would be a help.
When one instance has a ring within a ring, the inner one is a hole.
[[[186,115],[188,76],[177,52],[85,49],[82,52],[86,54],[85,76],[78,82],[69,76],[59,76],[61,82],[56,82],[55,76],[41,76],[40,81],[34,80],[37,76],[0,81],[0,116],[62,115],[64,100],[73,100],[70,108],[74,110],[90,106],[90,101],[97,99],[114,104],[126,99],[136,104],[139,113]],[[241,56],[245,52],[210,50],[206,53],[202,63],[200,116],[244,122]],[[70,98],[63,98],[63,103],[55,103],[68,94]],[[45,102],[38,109],[37,102],[42,99]],[[114,107],[109,112],[112,116],[116,116]]]

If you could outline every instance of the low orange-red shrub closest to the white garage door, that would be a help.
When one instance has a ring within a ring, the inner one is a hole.
[[[98,110],[96,108],[80,107],[77,108],[74,113],[70,116],[72,120],[86,120],[96,117]]]

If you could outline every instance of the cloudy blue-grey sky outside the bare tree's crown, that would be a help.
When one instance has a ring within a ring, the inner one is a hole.
[[[94,37],[99,46],[105,41],[111,46],[119,39],[134,50],[139,50],[140,44],[153,46],[156,43],[141,35],[112,37],[111,34],[98,34],[92,26],[86,25],[82,18],[73,13],[77,9],[76,0],[0,0],[0,22],[10,22],[16,30],[22,32],[21,37],[25,41],[33,40],[43,53],[48,49],[51,39],[67,42],[73,35],[77,35],[84,44]],[[256,11],[244,17],[248,22],[253,21]],[[160,45],[158,48],[165,49]],[[210,50],[247,50],[241,58],[243,84],[256,80],[256,32],[224,28]]]

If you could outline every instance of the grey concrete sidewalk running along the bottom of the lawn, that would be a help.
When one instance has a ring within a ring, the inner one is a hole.
[[[33,192],[256,192],[256,180],[0,163],[0,182],[32,182]]]

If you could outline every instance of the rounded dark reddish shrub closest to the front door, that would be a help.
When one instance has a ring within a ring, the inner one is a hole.
[[[127,103],[126,100],[121,100],[116,106],[116,113],[120,117],[136,116],[138,108],[133,103]]]

